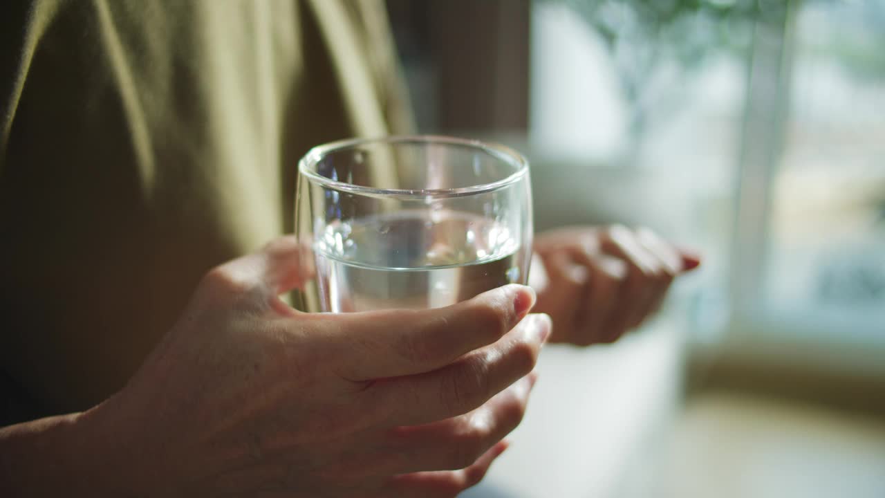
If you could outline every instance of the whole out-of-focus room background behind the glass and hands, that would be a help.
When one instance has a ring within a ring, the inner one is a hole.
[[[885,2],[387,3],[420,131],[525,152],[539,230],[704,253],[544,352],[471,496],[885,496]]]

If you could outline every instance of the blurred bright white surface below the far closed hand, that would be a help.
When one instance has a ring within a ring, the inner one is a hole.
[[[666,432],[677,406],[681,349],[674,329],[661,320],[612,346],[546,346],[526,416],[509,438],[512,446],[462,496],[630,494],[625,480],[633,478],[631,466]]]

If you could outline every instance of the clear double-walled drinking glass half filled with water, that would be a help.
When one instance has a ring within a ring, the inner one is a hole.
[[[296,234],[316,278],[308,312],[443,307],[526,284],[528,163],[501,145],[389,136],[320,145],[298,164]]]

